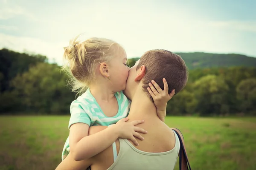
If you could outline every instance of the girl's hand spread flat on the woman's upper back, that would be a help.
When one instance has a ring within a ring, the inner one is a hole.
[[[127,121],[128,121],[128,118],[120,119],[113,126],[116,127],[116,129],[118,130],[119,138],[130,139],[135,145],[139,145],[135,137],[137,137],[140,140],[144,140],[144,138],[140,135],[140,133],[148,133],[148,132],[143,128],[136,127],[136,125],[144,123],[144,120],[134,120],[132,122],[127,122]]]

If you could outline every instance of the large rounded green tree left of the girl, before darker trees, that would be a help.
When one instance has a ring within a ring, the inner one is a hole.
[[[38,63],[15,77],[11,85],[26,111],[35,113],[69,113],[75,96],[66,86],[66,76],[58,65]]]

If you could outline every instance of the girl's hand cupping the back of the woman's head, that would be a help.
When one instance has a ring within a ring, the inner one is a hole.
[[[167,102],[172,99],[175,94],[175,89],[172,90],[170,94],[168,94],[169,87],[166,82],[166,79],[163,79],[164,89],[162,90],[159,85],[152,80],[149,83],[148,92],[152,96],[154,100],[154,105],[157,108],[157,116],[163,121],[166,116],[166,106]]]

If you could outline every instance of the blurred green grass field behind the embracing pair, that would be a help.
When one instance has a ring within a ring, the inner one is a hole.
[[[53,170],[69,116],[0,116],[0,170]],[[256,170],[256,118],[168,117],[193,170]],[[178,169],[178,164],[175,170]]]

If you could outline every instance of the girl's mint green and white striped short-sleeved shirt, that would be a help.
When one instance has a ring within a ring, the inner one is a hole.
[[[106,116],[96,99],[90,93],[90,89],[74,100],[70,105],[70,121],[68,128],[75,123],[85,123],[89,126],[108,126],[115,124],[120,119],[128,116],[130,102],[122,91],[114,94],[118,103],[118,112],[113,117]],[[70,152],[69,137],[67,138],[62,151],[62,160]]]

